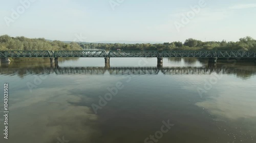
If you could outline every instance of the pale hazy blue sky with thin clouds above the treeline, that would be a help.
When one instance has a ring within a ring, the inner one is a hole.
[[[255,14],[255,0],[1,0],[0,35],[86,42],[237,41],[256,39]]]

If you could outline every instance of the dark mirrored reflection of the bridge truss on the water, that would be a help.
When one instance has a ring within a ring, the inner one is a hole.
[[[224,73],[224,74],[254,74],[256,75],[255,68],[243,68],[238,69],[234,67],[228,68],[193,68],[193,67],[176,67],[176,68],[157,68],[157,67],[112,67],[112,68],[105,68],[105,67],[34,67],[34,68],[0,68],[0,74],[60,74],[60,75],[104,75],[111,74],[111,75],[156,75],[159,73],[165,75],[186,75],[186,74],[210,74],[212,72],[216,73]]]

